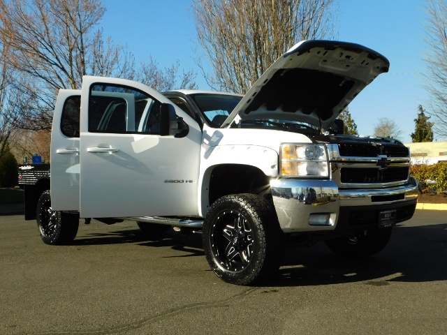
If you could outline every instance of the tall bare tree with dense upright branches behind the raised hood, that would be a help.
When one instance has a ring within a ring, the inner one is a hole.
[[[330,38],[337,0],[193,0],[214,89],[244,94],[300,40]],[[205,74],[205,73],[204,73]]]

